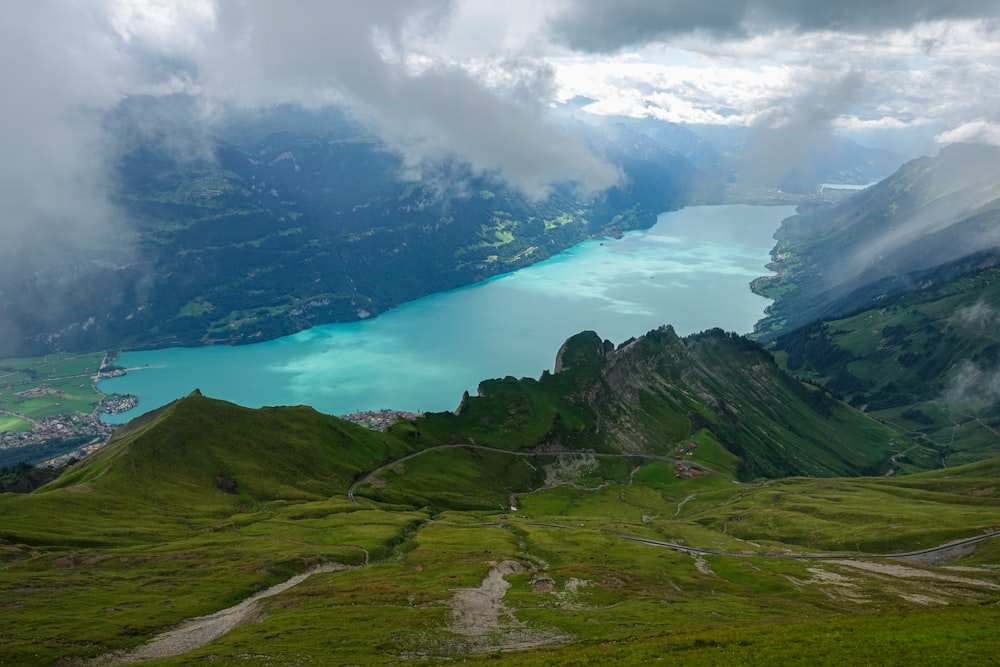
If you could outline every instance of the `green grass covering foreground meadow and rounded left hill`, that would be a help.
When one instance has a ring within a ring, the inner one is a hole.
[[[135,647],[330,561],[355,569],[314,575],[262,602],[259,622],[151,664],[996,655],[998,540],[957,561],[962,570],[865,559],[905,576],[761,555],[901,550],[995,529],[1000,460],[745,484],[730,476],[735,457],[701,431],[685,458],[710,466],[704,476],[648,459],[453,448],[390,466],[384,486],[350,502],[351,481],[412,452],[419,438],[407,433],[419,425],[381,434],[308,409],[192,395],[39,492],[0,496],[0,662],[73,663]],[[562,483],[541,488],[553,476]],[[517,512],[501,508],[511,493]],[[743,555],[692,556],[622,534]],[[505,560],[527,571],[507,576],[501,630],[469,653],[471,640],[451,630],[455,592]],[[518,632],[561,639],[514,653],[491,643]]]

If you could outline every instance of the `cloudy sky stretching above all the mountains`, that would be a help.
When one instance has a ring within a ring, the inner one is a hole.
[[[620,178],[553,121],[570,100],[904,155],[1000,145],[998,45],[995,0],[9,0],[0,266],[127,227],[102,117],[130,96],[190,95],[206,125],[346,106],[416,177],[457,159],[543,197]]]

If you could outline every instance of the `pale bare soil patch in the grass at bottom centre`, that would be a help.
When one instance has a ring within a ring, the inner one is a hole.
[[[450,602],[452,622],[448,629],[462,638],[455,649],[467,653],[511,651],[565,639],[557,632],[529,629],[503,604],[503,597],[510,588],[504,577],[527,572],[528,568],[521,563],[505,560],[490,568],[478,588],[454,591]]]

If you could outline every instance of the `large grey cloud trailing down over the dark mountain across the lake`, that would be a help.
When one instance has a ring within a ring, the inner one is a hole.
[[[614,168],[547,119],[544,64],[508,59],[476,76],[410,49],[413,34],[434,34],[446,3],[295,7],[220,4],[222,39],[207,42],[198,61],[204,94],[251,105],[347,105],[410,167],[457,160],[535,197],[559,182],[589,192],[617,182]]]

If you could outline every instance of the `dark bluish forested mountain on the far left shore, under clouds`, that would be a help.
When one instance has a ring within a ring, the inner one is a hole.
[[[127,233],[30,274],[0,270],[0,315],[17,331],[0,356],[249,343],[363,319],[649,227],[689,201],[698,173],[611,137],[600,154],[618,186],[535,200],[462,164],[418,173],[337,110],[206,126],[192,104],[130,98],[107,119]]]

